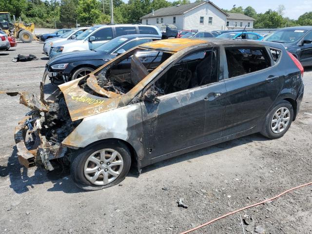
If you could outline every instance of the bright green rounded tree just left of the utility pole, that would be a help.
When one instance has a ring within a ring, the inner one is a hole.
[[[101,15],[99,2],[97,0],[79,0],[76,13],[78,20],[92,25]]]

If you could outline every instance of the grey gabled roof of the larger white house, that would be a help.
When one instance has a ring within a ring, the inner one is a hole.
[[[179,5],[179,6],[163,7],[163,8],[160,8],[160,9],[154,11],[154,15],[151,12],[145,16],[142,16],[140,19],[151,18],[151,17],[160,17],[160,16],[181,15],[181,14],[184,14],[190,10],[193,10],[194,8],[201,6],[205,3],[210,3],[215,8],[217,8],[219,11],[221,11],[226,16],[228,16],[227,13],[222,11],[222,9],[217,7],[213,2],[211,2],[211,1],[200,1],[200,2],[190,3],[190,4]]]

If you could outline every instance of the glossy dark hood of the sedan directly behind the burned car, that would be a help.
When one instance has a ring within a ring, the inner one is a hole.
[[[64,54],[60,54],[49,62],[47,65],[51,66],[58,63],[70,63],[70,62],[77,62],[81,60],[89,60],[89,59],[105,59],[105,55],[100,54],[99,52],[87,50],[87,51],[75,51],[75,52],[68,52]]]

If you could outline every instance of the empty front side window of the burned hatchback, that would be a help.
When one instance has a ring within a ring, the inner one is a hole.
[[[218,80],[217,48],[194,52],[176,62],[154,85],[159,95],[166,95],[214,83]]]

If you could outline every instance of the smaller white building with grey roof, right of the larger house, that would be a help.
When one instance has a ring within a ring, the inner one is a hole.
[[[226,20],[227,29],[252,29],[254,27],[254,18],[239,13],[228,13]]]

